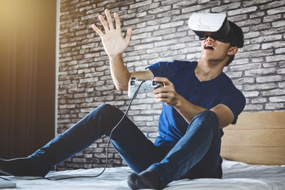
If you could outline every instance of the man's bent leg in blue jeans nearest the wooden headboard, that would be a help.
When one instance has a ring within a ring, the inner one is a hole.
[[[187,132],[175,144],[175,147],[161,162],[152,164],[147,171],[155,172],[160,176],[161,183],[156,189],[163,189],[171,181],[182,178],[194,179],[209,176],[219,178],[222,177],[219,176],[218,171],[221,164],[219,151],[220,134],[217,115],[207,110],[193,118]],[[200,165],[200,168],[197,167],[197,164]],[[201,167],[203,164],[207,167]],[[206,170],[201,171],[201,169]],[[141,178],[142,181],[145,181],[142,176],[133,174],[129,181],[140,181]],[[143,186],[143,188],[147,188],[147,186]]]

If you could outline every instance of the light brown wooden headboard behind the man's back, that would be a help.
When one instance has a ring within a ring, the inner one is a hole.
[[[222,158],[248,164],[285,164],[285,112],[244,112],[224,129]]]

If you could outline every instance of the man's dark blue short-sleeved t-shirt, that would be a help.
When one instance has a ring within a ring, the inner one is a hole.
[[[155,77],[165,77],[174,85],[176,92],[194,105],[211,109],[223,104],[234,113],[234,121],[245,106],[244,95],[235,88],[232,80],[224,73],[207,81],[199,81],[195,75],[197,62],[174,60],[158,62],[147,67]],[[162,103],[162,112],[158,122],[160,134],[155,145],[176,143],[185,134],[188,127],[186,120],[174,107]],[[221,133],[223,134],[222,130]]]

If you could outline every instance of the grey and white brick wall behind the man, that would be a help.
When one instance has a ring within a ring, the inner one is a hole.
[[[244,48],[224,72],[247,97],[244,112],[284,110],[285,102],[285,1],[61,1],[60,53],[58,71],[58,134],[78,122],[102,102],[125,111],[126,92],[115,90],[109,61],[100,38],[91,28],[101,26],[98,15],[104,9],[117,11],[122,30],[133,28],[130,46],[124,53],[130,71],[143,70],[158,60],[198,60],[197,36],[187,26],[194,12],[227,12],[244,31]],[[105,14],[104,14],[105,15]],[[140,94],[129,117],[152,141],[157,135],[161,105],[152,94]],[[108,139],[98,139],[84,152],[60,164],[57,169],[103,167]],[[110,164],[125,164],[110,149]]]

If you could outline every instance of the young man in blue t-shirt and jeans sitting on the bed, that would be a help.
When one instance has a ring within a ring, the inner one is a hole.
[[[222,128],[237,121],[244,109],[245,98],[222,70],[243,46],[242,30],[229,22],[232,30],[229,42],[215,36],[203,36],[199,62],[175,60],[160,62],[146,70],[129,73],[123,63],[123,51],[130,43],[131,28],[126,37],[120,31],[118,14],[110,12],[107,21],[99,16],[105,29],[99,34],[110,58],[110,71],[118,90],[128,90],[130,77],[152,79],[164,84],[153,91],[162,102],[159,134],[155,144],[125,117],[115,129],[111,142],[130,166],[131,189],[163,189],[177,179],[222,178],[220,144]],[[109,135],[123,116],[112,105],[103,104],[90,112],[63,134],[48,142],[31,156],[0,160],[0,171],[18,176],[45,176],[56,164],[81,152],[103,134]]]

